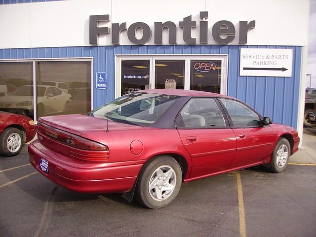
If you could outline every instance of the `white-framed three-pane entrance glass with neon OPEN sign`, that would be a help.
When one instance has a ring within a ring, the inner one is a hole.
[[[226,94],[228,55],[116,55],[115,97],[141,89]]]

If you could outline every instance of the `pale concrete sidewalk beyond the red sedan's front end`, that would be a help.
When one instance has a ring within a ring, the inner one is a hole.
[[[304,128],[302,147],[289,162],[316,164],[316,128]]]

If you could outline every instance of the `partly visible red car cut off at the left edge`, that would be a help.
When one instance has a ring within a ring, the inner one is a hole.
[[[36,134],[34,121],[26,116],[0,111],[0,155],[12,157],[20,153],[23,143]]]

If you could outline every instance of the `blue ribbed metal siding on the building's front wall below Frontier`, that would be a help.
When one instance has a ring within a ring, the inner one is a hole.
[[[293,49],[292,77],[240,77],[240,48]],[[0,49],[0,59],[93,57],[93,77],[107,72],[108,90],[94,89],[94,107],[114,99],[116,54],[228,54],[227,94],[275,122],[296,127],[301,70],[301,46],[253,45],[123,45]],[[95,84],[95,83],[94,83]],[[106,94],[107,93],[107,94]]]

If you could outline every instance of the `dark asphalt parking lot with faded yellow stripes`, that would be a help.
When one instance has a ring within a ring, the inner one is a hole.
[[[151,210],[119,194],[57,186],[29,165],[25,146],[0,157],[0,203],[1,237],[315,237],[316,166],[280,174],[258,166],[186,183],[171,205]]]

